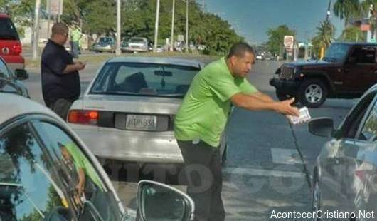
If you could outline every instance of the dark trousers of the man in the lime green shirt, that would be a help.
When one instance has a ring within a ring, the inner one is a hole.
[[[203,141],[193,144],[192,141],[178,140],[178,145],[184,158],[187,194],[195,202],[195,220],[225,220],[220,148],[213,148]]]

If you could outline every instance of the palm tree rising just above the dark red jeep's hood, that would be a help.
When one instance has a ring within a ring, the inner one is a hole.
[[[317,26],[317,36],[315,36],[314,39],[321,48],[321,58],[323,58],[324,51],[330,46],[331,41],[334,40],[334,36],[335,27],[330,23],[330,21],[322,21],[319,26]]]

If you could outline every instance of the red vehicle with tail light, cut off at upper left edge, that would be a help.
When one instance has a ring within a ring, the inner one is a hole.
[[[16,27],[7,14],[0,13],[0,57],[12,70],[25,69],[25,60]]]

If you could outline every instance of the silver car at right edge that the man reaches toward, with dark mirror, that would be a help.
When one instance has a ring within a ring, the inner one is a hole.
[[[310,133],[330,138],[314,166],[314,212],[339,210],[359,216],[359,211],[376,210],[376,95],[377,85],[364,93],[336,130],[331,118],[309,122]]]

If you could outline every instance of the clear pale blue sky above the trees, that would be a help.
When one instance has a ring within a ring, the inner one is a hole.
[[[332,12],[334,1],[330,21],[337,38],[344,29],[344,21]],[[206,11],[227,20],[237,34],[253,44],[266,42],[266,31],[281,24],[296,30],[298,41],[306,41],[316,36],[316,27],[326,19],[329,6],[329,0],[204,0],[204,3]]]

